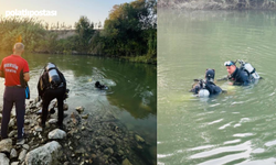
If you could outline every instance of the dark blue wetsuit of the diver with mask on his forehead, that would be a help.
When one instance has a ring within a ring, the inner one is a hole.
[[[233,85],[236,86],[248,86],[251,82],[248,73],[241,68],[236,68],[230,79],[234,80]]]

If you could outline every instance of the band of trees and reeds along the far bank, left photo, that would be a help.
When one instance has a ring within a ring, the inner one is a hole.
[[[116,4],[105,20],[93,23],[81,16],[74,35],[60,37],[72,30],[64,23],[49,24],[33,18],[0,19],[0,51],[10,51],[22,42],[26,51],[50,54],[91,54],[114,56],[131,62],[157,62],[157,1],[135,0]]]

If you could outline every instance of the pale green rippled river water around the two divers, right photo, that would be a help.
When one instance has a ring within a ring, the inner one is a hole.
[[[275,164],[276,12],[158,10],[158,164]],[[226,94],[188,92],[206,68],[250,62],[264,78]]]

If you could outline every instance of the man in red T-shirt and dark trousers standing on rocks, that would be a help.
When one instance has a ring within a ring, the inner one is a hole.
[[[25,114],[25,86],[30,80],[28,62],[21,57],[24,45],[17,43],[13,54],[4,57],[0,66],[0,77],[4,77],[3,111],[1,123],[1,138],[8,138],[8,125],[13,103],[15,103],[18,142],[24,143],[24,114]]]

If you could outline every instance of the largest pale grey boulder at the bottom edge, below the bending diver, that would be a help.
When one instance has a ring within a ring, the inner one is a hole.
[[[52,141],[43,146],[40,146],[25,156],[26,165],[57,165],[57,158],[62,155],[62,146],[56,141]]]

